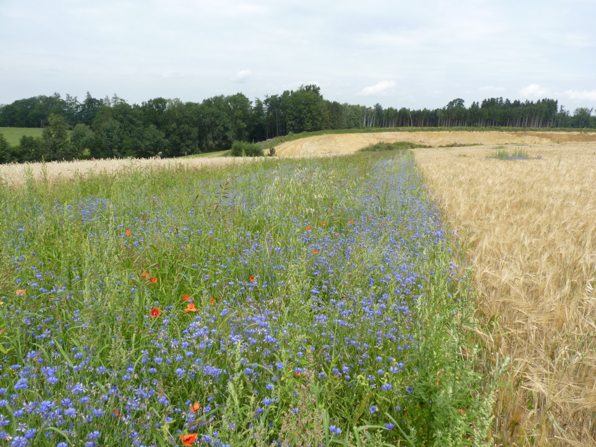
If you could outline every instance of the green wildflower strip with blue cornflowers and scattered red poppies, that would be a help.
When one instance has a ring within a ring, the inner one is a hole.
[[[407,150],[0,190],[0,445],[480,446],[457,234]]]

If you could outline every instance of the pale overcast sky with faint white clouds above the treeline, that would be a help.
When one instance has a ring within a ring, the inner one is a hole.
[[[596,0],[0,0],[0,104],[70,93],[200,102],[321,86],[436,108],[596,107]]]

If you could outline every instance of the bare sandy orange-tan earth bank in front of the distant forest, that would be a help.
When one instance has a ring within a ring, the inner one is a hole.
[[[309,136],[280,144],[279,156],[355,152],[378,142],[411,141],[433,147],[452,144],[540,144],[596,142],[596,132],[377,132]]]

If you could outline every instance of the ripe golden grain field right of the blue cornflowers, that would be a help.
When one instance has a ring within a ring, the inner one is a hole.
[[[515,148],[515,147],[510,147]],[[498,445],[596,445],[596,143],[415,150],[474,260]]]

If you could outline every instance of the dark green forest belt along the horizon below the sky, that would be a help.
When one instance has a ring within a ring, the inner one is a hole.
[[[231,148],[234,141],[263,141],[303,131],[398,127],[596,128],[592,108],[573,114],[557,100],[489,98],[465,107],[457,98],[443,108],[409,110],[340,104],[316,85],[249,100],[242,93],[201,103],[154,98],[128,104],[114,95],[55,93],[0,105],[0,127],[44,128],[11,147],[0,135],[0,163],[72,160],[82,157],[178,157]]]

